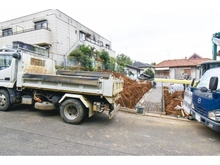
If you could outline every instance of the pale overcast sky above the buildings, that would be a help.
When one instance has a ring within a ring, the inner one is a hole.
[[[111,40],[116,54],[159,63],[197,53],[212,58],[212,34],[220,31],[217,0],[14,0],[1,4],[0,22],[59,9]]]

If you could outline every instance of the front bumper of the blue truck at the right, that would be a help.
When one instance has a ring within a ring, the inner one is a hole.
[[[198,122],[201,122],[202,124],[206,125],[207,127],[211,128],[212,130],[216,132],[220,132],[220,123],[215,122],[213,120],[210,120],[207,117],[200,115],[193,109],[191,109],[191,114]]]

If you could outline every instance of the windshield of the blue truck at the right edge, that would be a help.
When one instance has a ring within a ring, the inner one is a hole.
[[[197,88],[206,87],[209,89],[209,81],[211,77],[218,77],[218,87],[217,89],[220,90],[220,68],[213,68],[207,70],[204,75],[200,78],[199,83],[197,84]]]

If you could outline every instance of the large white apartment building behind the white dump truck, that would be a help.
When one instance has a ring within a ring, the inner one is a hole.
[[[68,54],[80,44],[105,50],[115,57],[111,41],[57,9],[30,14],[0,23],[0,48],[13,41],[48,49],[57,65],[66,64]]]

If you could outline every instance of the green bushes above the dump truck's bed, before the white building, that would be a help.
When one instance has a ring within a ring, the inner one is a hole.
[[[109,53],[105,50],[99,52],[94,47],[85,45],[80,45],[79,48],[73,50],[69,54],[68,60],[69,64],[67,65],[67,68],[69,69],[77,68],[90,71],[109,70],[123,74],[126,74],[124,69],[125,65],[132,64],[130,57],[124,54],[119,54],[117,58],[113,58],[110,57]]]

